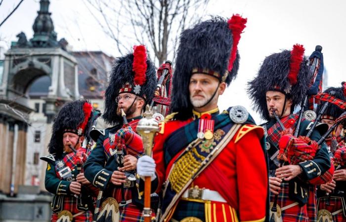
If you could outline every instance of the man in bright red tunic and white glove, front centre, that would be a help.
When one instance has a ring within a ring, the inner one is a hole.
[[[137,173],[163,191],[160,222],[265,220],[263,129],[243,107],[217,107],[237,74],[245,23],[239,15],[216,17],[180,36],[172,114],[161,123],[153,157],[137,163]]]

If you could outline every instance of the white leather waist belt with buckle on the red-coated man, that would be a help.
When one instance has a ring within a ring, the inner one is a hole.
[[[196,200],[210,200],[216,202],[226,203],[227,201],[221,194],[211,189],[190,188],[187,189],[181,196],[182,198],[196,199]]]

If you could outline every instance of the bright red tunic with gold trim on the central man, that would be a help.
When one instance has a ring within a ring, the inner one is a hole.
[[[155,137],[153,158],[159,180],[157,192],[168,179],[173,162],[182,151],[176,153],[165,167],[164,143],[175,130],[191,121],[193,118],[186,121],[169,121],[162,125],[162,131]],[[205,221],[264,221],[268,178],[266,160],[260,144],[262,137],[261,127],[243,125],[216,159],[193,181],[192,186],[215,190],[227,201],[204,201],[205,212],[202,214]],[[196,200],[183,198],[177,201],[175,208],[164,221],[171,218],[177,220],[176,215],[191,216],[183,210],[174,212],[183,201]]]

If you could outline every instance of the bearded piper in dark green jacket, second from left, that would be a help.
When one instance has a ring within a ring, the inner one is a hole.
[[[114,126],[90,132],[96,147],[84,165],[87,179],[103,190],[96,221],[143,221],[143,200],[138,197],[134,175],[137,158],[144,149],[136,126],[145,105],[154,97],[156,83],[155,67],[143,45],[134,46],[133,53],[116,58],[103,114],[105,121]],[[122,109],[128,124],[124,124]]]

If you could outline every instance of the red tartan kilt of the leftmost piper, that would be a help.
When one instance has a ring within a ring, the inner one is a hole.
[[[77,198],[71,195],[64,196],[62,210],[67,210],[72,213],[72,215],[78,214],[81,211],[77,209]],[[58,220],[58,213],[53,213],[51,216],[51,221],[56,222]],[[92,213],[91,211],[87,211],[75,218],[73,218],[73,222],[92,222]]]

